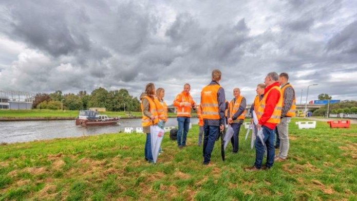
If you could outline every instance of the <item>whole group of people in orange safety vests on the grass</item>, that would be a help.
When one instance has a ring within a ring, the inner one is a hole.
[[[256,157],[254,166],[248,167],[246,171],[267,170],[273,166],[274,161],[284,161],[289,151],[288,124],[291,117],[295,116],[295,91],[288,82],[289,76],[285,72],[278,75],[270,72],[264,84],[258,84],[256,97],[250,108],[250,113],[254,113],[258,119],[255,126],[255,135],[262,130],[262,139],[255,141]],[[231,143],[233,153],[239,150],[239,130],[246,117],[246,98],[240,95],[240,89],[233,89],[234,98],[226,100],[224,89],[220,86],[221,71],[212,71],[212,81],[202,88],[200,104],[196,105],[190,95],[190,84],[184,84],[183,91],[178,94],[173,102],[177,107],[177,145],[178,148],[186,147],[186,136],[189,132],[191,109],[197,109],[199,118],[198,145],[202,145],[203,138],[203,165],[208,165],[211,161],[211,153],[214,143],[220,132],[224,132],[225,125],[232,126],[234,131]],[[155,89],[153,83],[148,83],[145,93],[140,97],[141,109],[143,113],[142,126],[146,133],[145,159],[153,162],[151,153],[150,126],[158,125],[163,127],[167,121],[167,105],[163,101],[164,89]],[[252,120],[253,123],[253,120]],[[275,136],[277,145],[274,146]],[[278,141],[279,139],[279,141]],[[279,142],[279,144],[278,144]],[[275,148],[279,148],[275,156]],[[262,165],[264,154],[267,154],[267,161]]]

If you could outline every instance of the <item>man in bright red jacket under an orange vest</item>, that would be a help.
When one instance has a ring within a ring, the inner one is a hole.
[[[266,89],[264,90],[264,97],[261,99],[260,106],[255,111],[258,117],[257,129],[262,129],[264,135],[264,143],[267,146],[267,163],[262,166],[264,157],[264,144],[259,138],[255,140],[255,163],[253,167],[246,168],[246,171],[258,171],[260,169],[270,169],[274,163],[275,149],[275,127],[280,122],[281,106],[283,104],[283,96],[279,85],[279,76],[276,72],[270,72],[265,78],[264,83]]]

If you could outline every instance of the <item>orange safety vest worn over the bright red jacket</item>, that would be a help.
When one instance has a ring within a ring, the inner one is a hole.
[[[281,95],[281,89],[280,87],[278,86],[273,86],[271,89],[268,90],[267,93],[264,94],[264,97],[261,99],[260,101],[260,105],[257,109],[256,112],[256,115],[258,117],[258,119],[260,119],[260,117],[263,115],[264,113],[264,109],[265,109],[265,104],[266,104],[266,101],[267,101],[267,97],[268,95],[270,94],[270,91],[272,89],[276,89],[279,91],[280,93],[280,98],[279,98],[279,101],[278,103],[275,105],[275,108],[274,108],[274,111],[273,111],[273,114],[270,116],[270,118],[268,119],[267,123],[280,123],[280,117],[281,117],[281,108],[283,107],[283,96]]]

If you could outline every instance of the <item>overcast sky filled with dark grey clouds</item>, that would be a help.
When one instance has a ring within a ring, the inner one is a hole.
[[[0,89],[134,96],[148,82],[170,104],[184,83],[198,102],[212,69],[248,103],[270,71],[305,103],[357,100],[357,3],[350,1],[0,1]]]

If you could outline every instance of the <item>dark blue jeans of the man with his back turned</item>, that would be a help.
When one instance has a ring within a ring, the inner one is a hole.
[[[211,153],[213,151],[214,143],[219,135],[219,126],[208,125],[207,120],[204,121],[203,162],[209,163],[211,161]]]

